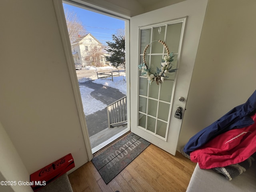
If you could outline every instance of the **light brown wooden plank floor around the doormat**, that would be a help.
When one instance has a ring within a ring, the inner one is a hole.
[[[185,192],[196,164],[150,144],[107,185],[88,162],[69,174],[74,192]]]

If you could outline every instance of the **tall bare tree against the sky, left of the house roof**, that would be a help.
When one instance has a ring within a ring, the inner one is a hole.
[[[82,22],[78,18],[76,12],[69,10],[67,6],[64,7],[64,13],[66,17],[66,23],[68,27],[68,34],[70,43],[74,43],[82,39],[82,36],[86,35],[86,28],[82,26]]]

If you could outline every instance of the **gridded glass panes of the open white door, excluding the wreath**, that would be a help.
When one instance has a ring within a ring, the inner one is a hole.
[[[158,42],[162,40],[174,55],[172,68],[178,68],[183,25],[184,22],[179,20],[140,29],[140,63],[143,64],[144,49],[150,44],[145,53],[146,63],[151,72],[161,68],[161,60],[167,56],[166,48]],[[140,72],[138,80],[138,127],[163,140],[166,140],[168,132],[175,78],[176,72],[169,73],[162,84],[150,84]]]

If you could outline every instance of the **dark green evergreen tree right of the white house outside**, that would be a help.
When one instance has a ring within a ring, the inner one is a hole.
[[[109,61],[116,68],[122,67],[125,69],[125,38],[112,34],[112,39],[114,42],[106,42],[108,48],[105,48],[105,50],[110,55],[105,57],[106,61]]]

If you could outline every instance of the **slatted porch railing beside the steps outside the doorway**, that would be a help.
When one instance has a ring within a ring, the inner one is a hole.
[[[127,122],[127,97],[124,96],[107,106],[108,127],[124,124]]]

